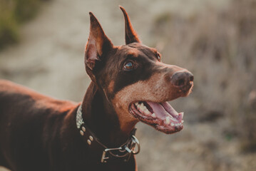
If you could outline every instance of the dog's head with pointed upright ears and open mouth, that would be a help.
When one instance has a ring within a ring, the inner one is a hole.
[[[121,129],[139,120],[164,133],[183,129],[183,113],[168,103],[190,94],[193,75],[161,62],[155,48],[143,45],[125,9],[126,45],[113,46],[92,13],[86,45],[86,71],[118,115]]]

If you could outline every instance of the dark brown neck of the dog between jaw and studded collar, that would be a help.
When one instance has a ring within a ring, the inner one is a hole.
[[[128,132],[123,133],[111,103],[93,82],[83,98],[82,113],[88,128],[107,147],[122,145],[128,140],[130,132],[134,128],[134,125],[130,125],[127,129]]]

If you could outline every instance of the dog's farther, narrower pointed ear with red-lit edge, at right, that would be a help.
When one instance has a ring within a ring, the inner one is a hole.
[[[137,33],[133,30],[133,26],[130,24],[130,19],[128,14],[126,13],[126,10],[123,9],[123,6],[119,6],[120,9],[123,11],[123,16],[126,21],[126,44],[138,42],[140,43],[140,40],[138,39]]]

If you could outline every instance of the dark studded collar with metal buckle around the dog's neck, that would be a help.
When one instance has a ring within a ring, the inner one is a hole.
[[[140,142],[135,138],[136,128],[133,129],[130,138],[120,147],[108,148],[106,145],[103,145],[83,121],[81,106],[79,105],[76,112],[76,126],[88,147],[93,151],[97,151],[96,155],[98,156],[96,157],[99,162],[115,162],[116,160],[128,162],[131,155],[136,155],[140,152]]]

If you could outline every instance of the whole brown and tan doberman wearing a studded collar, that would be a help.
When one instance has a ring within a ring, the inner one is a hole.
[[[193,75],[143,45],[125,9],[126,45],[113,46],[90,12],[82,103],[55,100],[0,81],[0,165],[13,171],[137,170],[135,124],[183,129],[167,102],[190,94]]]

